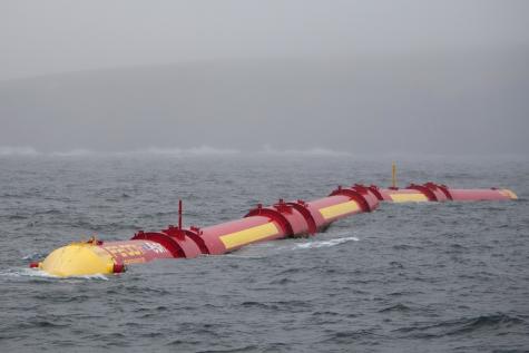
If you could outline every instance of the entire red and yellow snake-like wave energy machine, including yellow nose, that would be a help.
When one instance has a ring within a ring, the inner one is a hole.
[[[362,212],[371,212],[379,202],[444,202],[516,199],[509,189],[451,189],[427,183],[406,188],[382,189],[376,186],[353,185],[339,187],[330,196],[305,203],[285,203],[271,207],[258,205],[238,220],[203,229],[169,226],[160,232],[138,232],[130,241],[108,242],[91,239],[74,243],[51,252],[43,262],[31,264],[57,276],[111,274],[126,265],[158,258],[192,258],[200,254],[224,254],[252,243],[311,235],[332,222]],[[179,207],[182,210],[182,206]]]

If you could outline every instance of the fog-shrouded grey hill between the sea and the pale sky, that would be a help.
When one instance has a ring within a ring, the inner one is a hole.
[[[528,53],[208,61],[0,81],[0,146],[527,154]]]

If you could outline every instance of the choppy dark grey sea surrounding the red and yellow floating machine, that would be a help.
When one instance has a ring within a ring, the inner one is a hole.
[[[400,163],[401,179],[510,187],[507,203],[389,205],[310,239],[57,280],[27,265],[98,234],[238,218],[258,202],[386,185],[347,156],[0,157],[0,351],[529,351],[529,163]]]

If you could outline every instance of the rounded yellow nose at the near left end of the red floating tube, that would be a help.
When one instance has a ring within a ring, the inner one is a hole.
[[[39,267],[59,277],[111,274],[114,261],[97,245],[74,243],[51,252]]]

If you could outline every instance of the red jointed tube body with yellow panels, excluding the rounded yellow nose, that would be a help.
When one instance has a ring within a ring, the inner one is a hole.
[[[379,200],[405,203],[511,198],[516,198],[516,195],[507,189],[450,189],[433,183],[412,184],[404,189],[354,185],[351,188],[339,187],[331,196],[308,203],[284,203],[281,199],[272,207],[258,205],[243,219],[203,229],[169,226],[160,233],[140,232],[130,242],[106,243],[102,247],[108,247],[107,251],[123,264],[165,257],[190,258],[200,254],[223,254],[262,241],[314,234],[336,219],[375,209]]]

